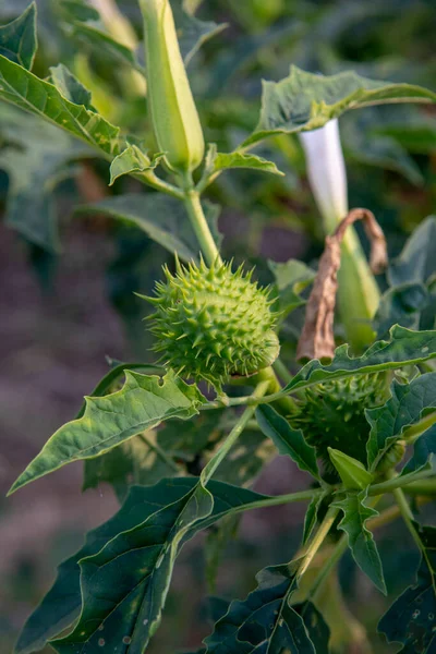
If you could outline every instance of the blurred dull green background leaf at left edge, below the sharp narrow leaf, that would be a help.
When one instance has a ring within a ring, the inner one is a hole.
[[[5,223],[48,252],[60,250],[55,192],[76,172],[78,157],[94,156],[86,145],[41,119],[2,105],[0,169],[9,175]]]

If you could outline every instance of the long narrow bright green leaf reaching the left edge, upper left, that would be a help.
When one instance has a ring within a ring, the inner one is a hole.
[[[49,82],[39,80],[21,65],[0,56],[0,99],[62,128],[101,150],[106,156],[120,152],[119,128],[95,111],[70,102]]]

